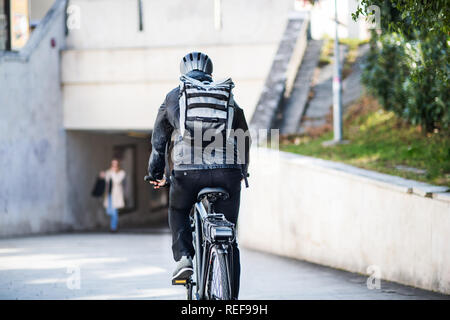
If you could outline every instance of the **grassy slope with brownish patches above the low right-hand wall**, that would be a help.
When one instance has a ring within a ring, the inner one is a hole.
[[[348,144],[322,146],[322,142],[333,138],[330,128],[328,124],[322,131],[315,129],[303,136],[282,137],[280,148],[450,187],[448,131],[425,134],[420,126],[411,126],[383,110],[369,96],[351,105],[344,116],[344,139],[349,140]],[[397,166],[425,170],[425,173],[400,170]]]

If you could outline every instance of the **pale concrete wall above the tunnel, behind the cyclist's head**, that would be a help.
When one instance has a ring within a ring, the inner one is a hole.
[[[274,46],[196,49],[211,56],[217,79],[233,77],[236,101],[250,117]],[[182,47],[64,51],[65,128],[150,130],[165,95],[179,84],[179,62],[187,52],[189,50]]]

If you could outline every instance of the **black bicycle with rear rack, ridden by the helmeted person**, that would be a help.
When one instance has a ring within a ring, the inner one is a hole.
[[[148,177],[144,178],[148,181]],[[194,273],[189,279],[173,280],[186,287],[187,300],[230,300],[233,290],[233,243],[236,230],[214,203],[226,200],[223,188],[203,188],[189,215],[195,249]]]

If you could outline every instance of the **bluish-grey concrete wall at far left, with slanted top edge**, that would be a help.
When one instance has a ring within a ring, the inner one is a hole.
[[[64,3],[16,53],[0,53],[0,236],[69,228],[59,50]],[[52,48],[50,40],[56,41]]]

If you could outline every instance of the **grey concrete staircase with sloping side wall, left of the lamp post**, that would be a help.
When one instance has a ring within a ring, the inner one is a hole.
[[[289,18],[250,121],[252,130],[302,134],[327,123],[333,104],[334,61],[318,68],[323,41],[308,40],[308,25],[308,17]],[[342,65],[347,46],[339,47]],[[343,81],[344,107],[362,94],[361,62],[366,51],[360,48],[352,73]]]

